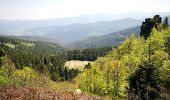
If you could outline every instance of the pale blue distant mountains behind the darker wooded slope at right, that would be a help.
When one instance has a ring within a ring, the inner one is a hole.
[[[0,35],[41,36],[69,43],[85,39],[88,36],[105,35],[141,25],[141,20],[155,14],[170,15],[169,12],[148,12],[114,16],[102,14],[81,15],[50,20],[0,20]],[[168,18],[170,19],[170,16]]]

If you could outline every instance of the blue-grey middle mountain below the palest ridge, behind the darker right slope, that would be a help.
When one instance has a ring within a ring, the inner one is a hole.
[[[102,21],[88,24],[71,24],[60,27],[47,27],[28,30],[25,34],[44,34],[44,37],[53,38],[65,43],[74,42],[87,38],[88,36],[105,35],[111,32],[120,31],[123,29],[141,25],[140,20],[131,18],[115,20],[115,21]]]

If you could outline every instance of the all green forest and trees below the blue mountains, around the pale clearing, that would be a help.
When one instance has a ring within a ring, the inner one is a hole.
[[[168,18],[162,21],[155,15],[146,19],[140,37],[132,35],[117,48],[67,50],[49,42],[7,37],[0,40],[0,86],[56,89],[60,82],[60,87],[68,82],[73,90],[109,100],[169,99]],[[64,67],[69,60],[92,63],[81,72]]]

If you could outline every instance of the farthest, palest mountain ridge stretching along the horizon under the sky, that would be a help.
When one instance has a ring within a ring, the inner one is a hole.
[[[44,20],[0,20],[0,34],[23,35],[23,32],[35,28],[43,28],[49,26],[65,26],[76,23],[94,23],[97,21],[113,21],[124,18],[133,18],[144,20],[147,17],[159,14],[161,16],[170,16],[170,12],[139,12],[124,13],[117,15],[109,14],[89,14],[75,17],[44,19]],[[36,34],[34,34],[36,35]]]

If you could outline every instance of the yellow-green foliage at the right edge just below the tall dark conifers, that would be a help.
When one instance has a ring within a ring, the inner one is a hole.
[[[152,36],[150,36],[146,42],[147,58],[157,68],[161,67],[164,60],[168,60],[168,52],[166,49],[167,37],[170,36],[170,30],[165,29],[158,31],[152,30]]]

